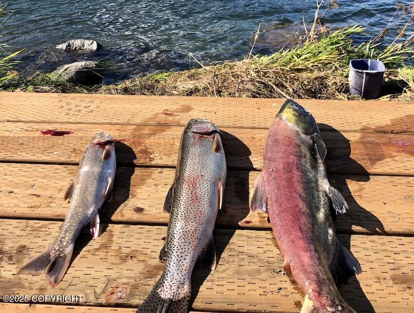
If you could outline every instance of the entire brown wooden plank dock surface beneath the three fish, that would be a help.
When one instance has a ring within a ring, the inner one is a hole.
[[[224,132],[228,216],[214,233],[215,271],[196,267],[194,312],[299,312],[303,295],[282,271],[264,214],[248,210],[267,129],[283,99],[0,93],[0,296],[81,295],[80,302],[0,303],[9,312],[132,313],[161,275],[158,254],[180,136],[190,118]],[[414,311],[414,103],[299,100],[327,146],[331,184],[349,204],[336,222],[362,274],[339,291],[357,312]],[[70,131],[64,136],[45,130]],[[63,194],[92,136],[116,144],[114,198],[103,234],[80,237],[73,262],[52,289],[45,277],[17,275],[56,238]],[[75,309],[75,310],[74,310]]]

